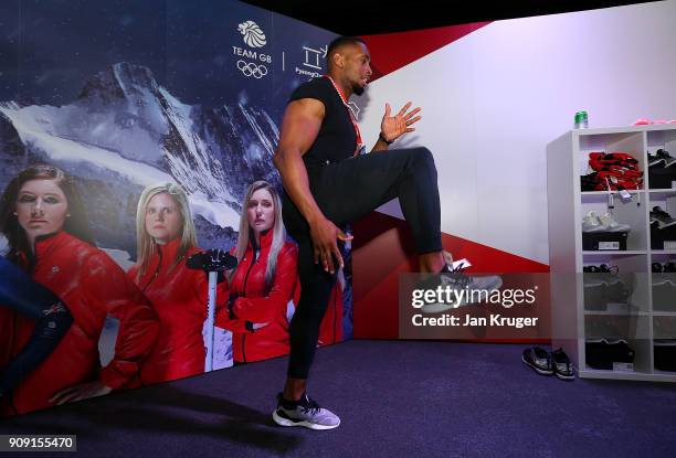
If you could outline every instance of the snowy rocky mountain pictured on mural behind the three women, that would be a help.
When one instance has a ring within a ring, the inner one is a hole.
[[[272,167],[279,132],[262,109],[186,105],[149,68],[118,63],[63,106],[0,104],[0,187],[46,162],[76,177],[101,247],[135,258],[141,190],[175,181],[190,195],[202,247],[234,244],[246,187],[279,185]]]

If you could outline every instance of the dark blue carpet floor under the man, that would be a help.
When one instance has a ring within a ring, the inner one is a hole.
[[[0,419],[0,434],[76,434],[77,455],[120,458],[676,456],[674,384],[563,382],[527,368],[524,348],[321,349],[308,392],[341,417],[329,432],[273,426],[282,358]]]

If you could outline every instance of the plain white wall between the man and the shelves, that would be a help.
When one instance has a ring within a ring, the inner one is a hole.
[[[546,146],[578,110],[676,118],[676,0],[493,22],[373,82],[365,138],[409,99],[423,119],[394,146],[434,153],[442,231],[547,264]]]

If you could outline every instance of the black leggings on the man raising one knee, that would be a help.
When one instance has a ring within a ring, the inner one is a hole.
[[[310,190],[337,226],[399,198],[419,254],[440,252],[441,211],[434,158],[426,148],[394,149],[308,168]],[[292,319],[288,376],[307,379],[336,275],[315,264],[309,226],[284,194],[284,224],[298,243],[300,301]]]

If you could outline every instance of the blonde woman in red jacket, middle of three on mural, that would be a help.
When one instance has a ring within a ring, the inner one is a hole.
[[[197,231],[186,192],[175,183],[144,190],[136,213],[138,262],[127,275],[144,291],[160,320],[160,332],[144,361],[144,384],[204,372],[202,328],[207,317],[208,279],[186,267],[198,253]],[[219,284],[219,300],[228,298]]]

